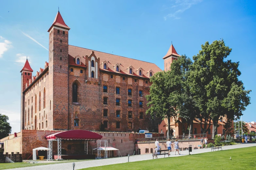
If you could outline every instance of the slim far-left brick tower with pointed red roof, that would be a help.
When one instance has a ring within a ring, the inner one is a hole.
[[[27,88],[29,85],[29,80],[32,78],[32,68],[30,67],[28,60],[26,60],[26,63],[24,64],[24,67],[22,68],[21,72],[21,122],[25,122],[25,116],[24,116],[24,105],[25,105],[25,100],[24,100],[24,95],[23,91]],[[24,129],[24,123],[21,123],[21,130]]]

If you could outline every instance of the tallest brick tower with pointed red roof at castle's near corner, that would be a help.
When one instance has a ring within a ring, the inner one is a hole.
[[[49,128],[68,129],[68,31],[58,11],[49,28],[49,99],[52,121]]]

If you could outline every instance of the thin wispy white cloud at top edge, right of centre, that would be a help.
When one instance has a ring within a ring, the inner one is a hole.
[[[169,13],[168,15],[163,17],[164,20],[167,20],[167,18],[173,18],[175,20],[180,19],[180,17],[177,16],[178,14],[189,9],[193,5],[196,5],[197,3],[202,2],[202,0],[174,0],[173,2],[174,4],[171,5],[171,8],[173,8],[172,10],[175,12]]]

